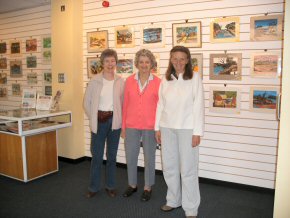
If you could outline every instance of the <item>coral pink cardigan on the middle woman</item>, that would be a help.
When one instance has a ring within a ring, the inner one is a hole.
[[[135,74],[128,77],[124,90],[122,129],[154,130],[160,79],[153,75],[147,87],[140,93]]]

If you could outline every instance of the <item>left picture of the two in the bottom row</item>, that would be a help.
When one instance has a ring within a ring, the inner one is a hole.
[[[240,113],[240,90],[234,87],[210,87],[209,111]]]

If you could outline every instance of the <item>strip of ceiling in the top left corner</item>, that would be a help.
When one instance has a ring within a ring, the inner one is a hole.
[[[50,4],[50,0],[0,0],[0,14]]]

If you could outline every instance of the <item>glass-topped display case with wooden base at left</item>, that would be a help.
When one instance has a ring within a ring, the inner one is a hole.
[[[28,182],[58,171],[57,131],[70,111],[0,111],[0,174]]]

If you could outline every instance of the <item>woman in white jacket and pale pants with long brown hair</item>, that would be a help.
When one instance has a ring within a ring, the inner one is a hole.
[[[159,88],[155,121],[168,186],[166,204],[161,210],[171,211],[182,206],[186,217],[197,216],[200,204],[198,145],[203,129],[200,75],[192,71],[189,49],[175,46],[170,51],[169,66]]]

